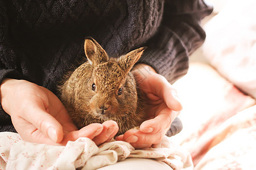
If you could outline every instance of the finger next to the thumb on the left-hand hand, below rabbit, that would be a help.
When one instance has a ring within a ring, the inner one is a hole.
[[[86,137],[93,139],[97,135],[101,134],[104,127],[102,124],[90,124],[85,126],[80,130],[71,131],[68,134],[64,135],[63,141],[61,141],[61,145],[66,145],[68,141],[76,141],[76,139],[80,137]]]

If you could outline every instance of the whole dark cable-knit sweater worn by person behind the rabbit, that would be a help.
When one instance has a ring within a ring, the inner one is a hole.
[[[203,0],[1,0],[0,82],[26,79],[56,93],[63,74],[84,59],[84,38],[91,36],[114,57],[148,46],[139,62],[174,83],[203,43],[199,24],[210,12]],[[0,131],[15,131],[2,108]]]

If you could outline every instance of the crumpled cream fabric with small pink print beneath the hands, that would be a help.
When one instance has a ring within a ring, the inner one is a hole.
[[[0,133],[0,169],[97,169],[126,158],[150,158],[172,169],[193,169],[188,152],[168,137],[151,148],[135,150],[123,141],[98,147],[89,138],[79,138],[66,146],[51,146],[23,141],[16,133]]]

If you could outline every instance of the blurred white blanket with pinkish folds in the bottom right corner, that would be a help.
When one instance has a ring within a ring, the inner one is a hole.
[[[195,170],[256,169],[256,105],[230,117],[208,141],[209,151]]]

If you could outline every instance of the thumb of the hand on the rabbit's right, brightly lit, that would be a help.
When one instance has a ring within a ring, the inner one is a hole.
[[[155,76],[154,81],[151,82],[150,86],[154,90],[155,94],[164,100],[168,108],[174,111],[181,111],[182,105],[180,104],[177,91],[172,88],[171,84],[161,75]],[[158,84],[156,86],[155,84]]]

